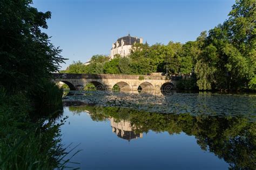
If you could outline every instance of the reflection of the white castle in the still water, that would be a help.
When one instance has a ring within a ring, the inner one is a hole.
[[[112,132],[116,133],[119,138],[131,140],[137,138],[143,138],[143,133],[136,134],[132,131],[132,126],[130,121],[121,120],[118,123],[110,118],[110,123],[112,127]]]

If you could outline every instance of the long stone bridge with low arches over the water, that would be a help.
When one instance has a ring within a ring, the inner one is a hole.
[[[87,83],[95,85],[97,90],[112,90],[118,85],[120,90],[171,90],[176,89],[177,77],[140,76],[127,74],[71,74],[53,73],[55,83],[67,84],[70,90],[80,90]]]

